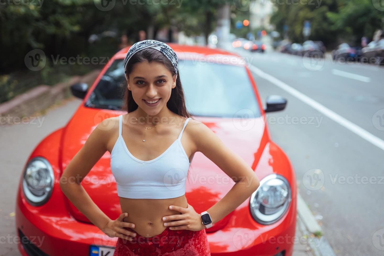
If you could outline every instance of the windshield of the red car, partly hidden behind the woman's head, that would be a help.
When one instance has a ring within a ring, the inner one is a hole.
[[[91,92],[87,107],[121,109],[126,84],[123,65],[123,59],[113,61]],[[232,118],[242,112],[260,117],[255,92],[243,66],[179,59],[179,73],[185,105],[192,115]]]

